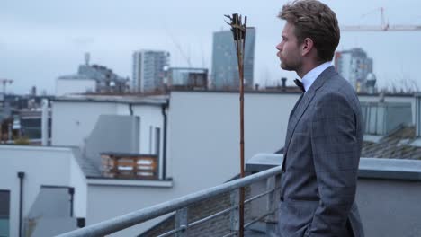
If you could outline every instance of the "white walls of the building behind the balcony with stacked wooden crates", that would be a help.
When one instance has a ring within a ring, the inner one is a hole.
[[[162,178],[164,129],[159,105],[132,104],[114,101],[54,101],[52,106],[52,145],[76,145],[83,149],[87,138],[103,114],[139,116],[139,153],[155,152],[155,129],[160,129],[159,177]]]

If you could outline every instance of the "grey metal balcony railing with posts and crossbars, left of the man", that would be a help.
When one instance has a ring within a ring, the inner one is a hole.
[[[266,208],[265,213],[263,215],[258,216],[255,220],[244,225],[244,227],[248,227],[251,224],[254,224],[258,221],[264,219],[266,224],[266,232],[273,232],[274,225],[273,223],[276,221],[275,210],[276,208],[276,200],[275,200],[275,190],[277,189],[277,179],[276,176],[281,174],[281,167],[274,167],[272,169],[266,171],[260,171],[255,174],[246,176],[245,178],[232,180],[227,183],[221,184],[216,187],[212,187],[210,189],[203,189],[201,191],[186,195],[181,198],[175,198],[173,200],[166,201],[161,204],[157,204],[155,206],[150,206],[144,209],[140,209],[138,211],[131,212],[126,215],[121,215],[114,217],[112,219],[103,221],[98,224],[92,224],[86,226],[81,229],[77,229],[75,231],[69,233],[63,233],[58,235],[59,237],[76,237],[76,236],[103,236],[110,233],[115,233],[121,231],[123,229],[129,228],[136,224],[144,223],[148,220],[156,218],[161,215],[166,215],[175,212],[175,229],[162,233],[159,235],[160,237],[169,236],[171,234],[175,234],[175,236],[186,236],[185,234],[188,233],[189,228],[197,224],[202,224],[206,221],[209,221],[212,218],[215,218],[219,215],[230,215],[230,232],[225,236],[236,236],[239,230],[239,212],[238,212],[238,203],[239,203],[239,195],[238,190],[241,187],[246,187],[251,184],[254,184],[258,181],[266,180],[266,190],[256,195],[255,197],[248,198],[245,201],[246,203],[250,203],[251,201],[262,198],[266,196]],[[208,215],[200,220],[196,220],[192,223],[188,223],[187,215],[188,209],[187,206],[197,204],[207,198],[213,198],[220,194],[230,192],[230,207],[225,210],[219,211],[218,213]],[[269,224],[272,223],[272,224]]]

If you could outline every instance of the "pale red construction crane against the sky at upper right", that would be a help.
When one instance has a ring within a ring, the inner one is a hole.
[[[345,25],[340,27],[341,31],[421,31],[421,25],[390,25],[384,20],[383,7],[374,11],[381,12],[381,25]]]

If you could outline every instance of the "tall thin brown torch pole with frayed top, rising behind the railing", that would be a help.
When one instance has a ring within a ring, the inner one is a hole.
[[[244,174],[244,49],[246,45],[246,22],[247,17],[244,18],[244,24],[241,22],[241,16],[237,13],[232,14],[232,17],[226,15],[230,22],[231,31],[233,33],[234,42],[237,51],[238,75],[239,75],[239,101],[240,101],[240,177]],[[239,189],[239,230],[238,236],[244,237],[244,201],[245,189]]]

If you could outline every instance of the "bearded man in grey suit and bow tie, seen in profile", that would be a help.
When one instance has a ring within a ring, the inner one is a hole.
[[[354,88],[331,65],[340,38],[336,14],[298,0],[279,17],[286,24],[277,56],[305,91],[291,111],[283,150],[279,235],[361,237],[354,199],[363,125]]]

